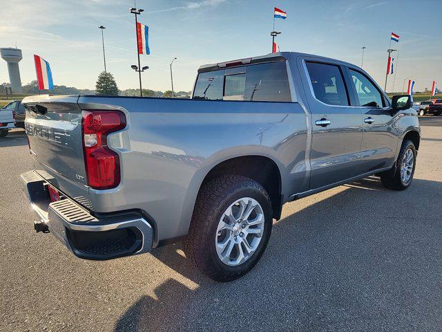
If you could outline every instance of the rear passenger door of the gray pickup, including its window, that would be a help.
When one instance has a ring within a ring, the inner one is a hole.
[[[310,189],[316,189],[359,174],[363,120],[351,106],[343,66],[313,59],[302,66],[311,112]]]

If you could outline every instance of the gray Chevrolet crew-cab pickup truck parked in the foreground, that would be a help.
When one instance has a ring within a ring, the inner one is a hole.
[[[211,64],[192,97],[25,98],[35,229],[84,259],[184,241],[227,282],[255,266],[284,203],[372,174],[412,182],[412,100],[358,66],[301,53]]]

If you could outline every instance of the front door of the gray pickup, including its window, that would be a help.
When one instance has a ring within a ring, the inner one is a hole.
[[[390,104],[374,81],[357,68],[347,68],[355,96],[355,106],[363,115],[361,172],[391,167],[396,160],[398,128]]]

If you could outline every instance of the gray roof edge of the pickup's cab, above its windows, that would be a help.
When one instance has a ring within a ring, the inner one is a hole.
[[[315,58],[324,61],[344,64],[347,66],[356,66],[348,62],[344,62],[338,59],[332,59],[330,57],[322,57],[320,55],[313,55],[313,54],[299,53],[299,52],[278,52],[278,53],[269,53],[267,55],[260,55],[258,57],[248,57],[245,59],[236,59],[233,61],[218,62],[217,64],[204,64],[203,66],[200,66],[200,68],[198,68],[198,73],[204,73],[206,71],[215,71],[220,68],[225,68],[226,66],[229,66],[229,64],[232,64],[231,66],[245,66],[247,64],[257,64],[262,62],[285,61],[288,60],[289,57],[309,57],[309,58]]]

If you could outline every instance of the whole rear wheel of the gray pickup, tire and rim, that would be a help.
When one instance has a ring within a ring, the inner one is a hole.
[[[244,176],[220,176],[198,194],[184,252],[211,279],[230,282],[258,263],[272,221],[262,185]]]

